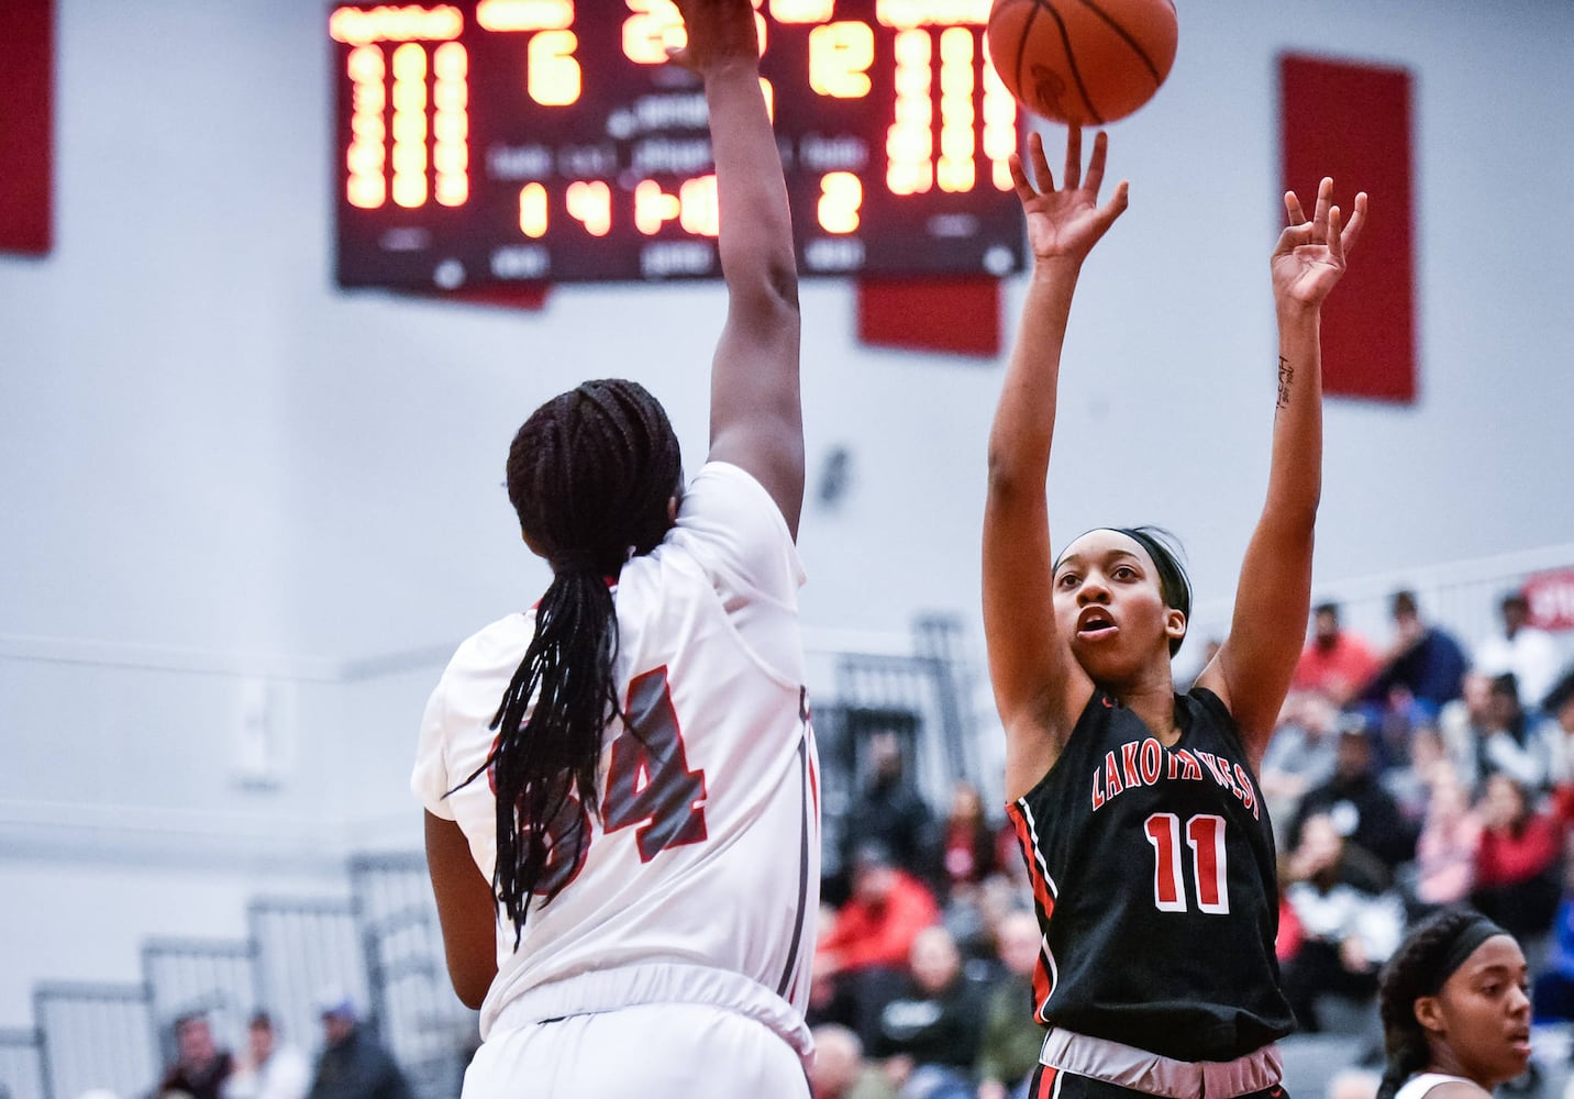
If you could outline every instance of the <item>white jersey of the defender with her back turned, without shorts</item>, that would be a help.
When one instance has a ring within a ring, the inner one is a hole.
[[[524,935],[499,913],[482,1038],[641,1003],[729,1006],[801,1055],[820,888],[817,757],[798,631],[803,568],[781,512],[738,466],[708,463],[655,551],[614,587],[623,709],[601,751],[578,868]],[[534,631],[512,614],[460,646],[427,704],[411,787],[496,863],[480,768]],[[460,789],[455,789],[460,787]],[[452,790],[452,792],[450,792]]]

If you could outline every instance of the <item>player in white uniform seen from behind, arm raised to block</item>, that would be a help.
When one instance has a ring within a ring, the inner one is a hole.
[[[411,779],[449,971],[482,1011],[464,1099],[807,1097],[815,753],[787,192],[749,0],[680,0],[710,107],[727,321],[685,488],[660,403],[537,409],[508,496],[552,567],[466,641]]]

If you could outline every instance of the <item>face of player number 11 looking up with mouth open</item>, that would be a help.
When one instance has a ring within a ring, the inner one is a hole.
[[[1055,624],[1077,663],[1107,686],[1168,664],[1169,638],[1185,631],[1185,616],[1165,606],[1154,559],[1119,531],[1089,531],[1061,554]]]

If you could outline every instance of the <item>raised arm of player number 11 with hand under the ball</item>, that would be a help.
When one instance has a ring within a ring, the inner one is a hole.
[[[1044,776],[1092,694],[1092,682],[1055,627],[1045,477],[1072,293],[1088,252],[1125,209],[1125,183],[1099,205],[1107,148],[1099,134],[1083,175],[1081,131],[1072,128],[1059,189],[1039,134],[1028,135],[1033,183],[1022,159],[1011,159],[1033,274],[990,430],[984,502],[984,636],[1006,729],[1007,798],[1026,794]]]

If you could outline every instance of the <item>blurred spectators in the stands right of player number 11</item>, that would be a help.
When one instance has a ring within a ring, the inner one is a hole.
[[[1380,650],[1316,608],[1262,762],[1297,1019],[1316,1031],[1330,1009],[1369,1009],[1404,931],[1450,904],[1525,945],[1538,1022],[1574,1017],[1574,664],[1520,592],[1473,644],[1412,592],[1390,611]]]

